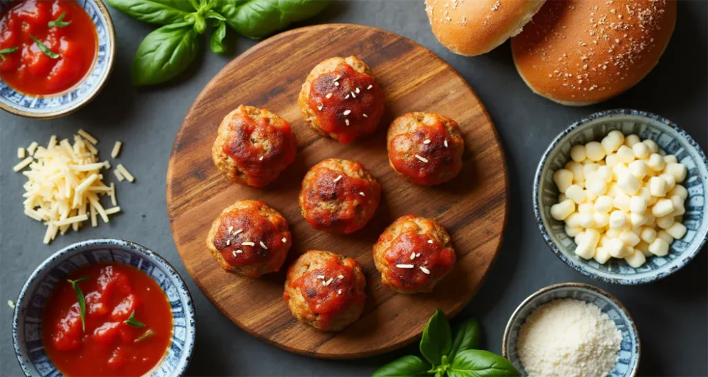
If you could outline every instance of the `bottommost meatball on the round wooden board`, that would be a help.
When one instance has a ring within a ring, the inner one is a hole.
[[[282,298],[305,325],[338,331],[361,315],[365,287],[364,272],[356,260],[309,250],[287,269]]]

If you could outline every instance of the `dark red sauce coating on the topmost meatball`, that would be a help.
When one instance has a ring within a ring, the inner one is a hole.
[[[308,105],[319,115],[324,131],[336,133],[338,141],[348,144],[375,131],[384,115],[384,92],[372,76],[340,63],[312,81]]]

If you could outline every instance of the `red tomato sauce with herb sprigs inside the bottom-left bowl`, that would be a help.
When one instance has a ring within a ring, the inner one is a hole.
[[[67,377],[138,377],[166,354],[172,337],[172,309],[164,291],[142,271],[120,263],[81,267],[67,279],[86,300],[86,330],[76,293],[66,280],[50,295],[42,317],[42,343]],[[134,318],[144,327],[127,325]],[[146,332],[153,335],[145,337]],[[141,339],[143,338],[143,339]]]

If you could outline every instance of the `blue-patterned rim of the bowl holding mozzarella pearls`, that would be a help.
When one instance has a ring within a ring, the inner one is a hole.
[[[545,166],[545,164],[548,161],[549,154],[553,149],[561,142],[563,141],[570,133],[573,131],[573,129],[576,129],[578,127],[583,127],[586,124],[593,122],[595,120],[601,119],[601,118],[609,118],[609,117],[614,117],[617,115],[631,115],[634,117],[643,117],[646,118],[647,120],[652,120],[656,122],[660,122],[666,127],[672,128],[675,132],[677,132],[681,137],[683,137],[687,143],[692,146],[697,152],[698,155],[700,156],[702,163],[708,165],[708,160],[706,159],[705,153],[703,153],[703,150],[701,147],[698,145],[698,143],[693,139],[684,129],[681,127],[678,127],[677,124],[674,122],[666,119],[665,117],[661,117],[660,115],[653,114],[651,112],[646,112],[646,111],[641,111],[641,110],[633,110],[633,109],[613,109],[613,110],[605,110],[605,111],[600,111],[600,112],[595,112],[593,114],[590,114],[586,117],[583,117],[581,120],[578,120],[571,124],[568,128],[564,129],[559,133],[551,142],[551,144],[548,146],[546,151],[544,151],[543,155],[541,156],[541,160],[539,161],[539,164],[536,168],[536,174],[534,176],[534,185],[533,185],[533,214],[534,218],[536,220],[536,226],[538,230],[541,232],[542,238],[545,241],[545,243],[548,245],[548,247],[552,250],[552,252],[558,257],[560,260],[562,260],[566,265],[574,269],[576,272],[579,272],[586,277],[590,277],[591,279],[598,280],[600,282],[605,282],[605,283],[610,283],[610,284],[621,284],[621,285],[639,285],[639,284],[647,284],[651,282],[656,282],[659,279],[663,279],[665,277],[668,277],[670,274],[674,274],[681,268],[685,267],[685,265],[688,264],[693,258],[698,254],[698,252],[703,248],[703,246],[706,243],[706,240],[708,239],[708,233],[704,233],[703,239],[701,240],[700,244],[695,248],[695,250],[690,251],[690,253],[687,253],[687,256],[681,260],[680,264],[676,266],[675,269],[670,269],[668,271],[664,272],[659,272],[658,274],[652,276],[652,277],[646,277],[644,279],[625,279],[624,277],[621,277],[617,275],[617,277],[602,277],[598,274],[594,274],[593,272],[588,271],[583,265],[576,263],[575,261],[571,260],[569,257],[566,257],[566,255],[561,252],[561,250],[558,248],[556,243],[552,240],[550,234],[548,233],[546,226],[543,224],[543,219],[541,217],[541,205],[539,203],[539,186],[541,182],[541,174],[542,170]]]

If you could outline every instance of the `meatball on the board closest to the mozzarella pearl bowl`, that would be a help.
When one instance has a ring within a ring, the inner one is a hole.
[[[416,185],[447,182],[462,169],[457,122],[432,112],[397,117],[388,132],[389,165]]]

